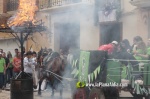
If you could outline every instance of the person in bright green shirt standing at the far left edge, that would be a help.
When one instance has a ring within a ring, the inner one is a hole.
[[[4,87],[4,74],[5,74],[5,59],[0,52],[0,90]]]

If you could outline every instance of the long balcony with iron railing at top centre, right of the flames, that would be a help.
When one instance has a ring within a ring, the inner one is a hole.
[[[80,2],[92,2],[94,0],[39,0],[39,9],[63,6]]]

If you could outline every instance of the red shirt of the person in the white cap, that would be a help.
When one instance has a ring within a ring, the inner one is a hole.
[[[114,46],[113,44],[106,44],[106,45],[100,46],[98,50],[108,51],[108,54],[111,54],[114,51]]]

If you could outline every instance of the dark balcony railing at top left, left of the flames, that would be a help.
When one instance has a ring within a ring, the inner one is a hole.
[[[19,0],[7,0],[7,11],[15,11],[18,8]]]

